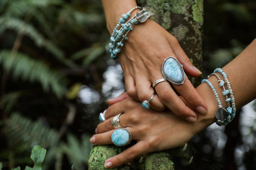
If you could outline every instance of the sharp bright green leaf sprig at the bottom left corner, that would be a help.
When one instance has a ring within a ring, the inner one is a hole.
[[[34,161],[34,167],[26,166],[25,170],[42,170],[42,163],[46,155],[46,149],[41,148],[39,145],[34,146],[30,158]]]

